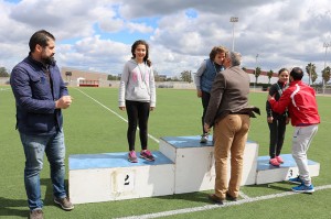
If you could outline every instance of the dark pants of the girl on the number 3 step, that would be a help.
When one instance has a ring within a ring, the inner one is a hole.
[[[285,138],[286,118],[274,118],[273,123],[268,123],[270,130],[269,155],[270,158],[279,156]]]

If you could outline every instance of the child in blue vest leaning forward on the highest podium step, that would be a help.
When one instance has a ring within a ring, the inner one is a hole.
[[[214,83],[214,78],[217,73],[224,70],[223,62],[225,58],[225,53],[227,48],[223,46],[214,46],[210,53],[210,58],[202,62],[200,68],[197,69],[194,83],[196,86],[196,95],[201,98],[203,113],[202,113],[202,135],[200,143],[206,143],[209,140],[209,133],[205,132],[203,124],[204,124],[204,117],[206,109],[209,107],[210,98],[211,98],[211,89]]]

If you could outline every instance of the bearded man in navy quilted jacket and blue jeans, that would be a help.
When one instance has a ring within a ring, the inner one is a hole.
[[[15,97],[17,129],[25,154],[24,184],[30,218],[43,218],[40,172],[44,153],[51,166],[54,201],[72,210],[64,185],[65,144],[62,109],[72,103],[54,61],[55,37],[47,31],[35,32],[29,42],[30,53],[11,73]]]

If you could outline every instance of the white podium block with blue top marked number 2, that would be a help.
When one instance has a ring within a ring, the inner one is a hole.
[[[74,204],[172,195],[174,164],[160,152],[154,162],[127,160],[128,153],[70,155],[70,197]],[[138,155],[138,154],[137,154]]]

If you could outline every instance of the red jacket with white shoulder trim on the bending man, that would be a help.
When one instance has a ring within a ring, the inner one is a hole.
[[[291,81],[278,101],[271,98],[269,102],[278,113],[287,108],[293,127],[320,123],[316,92],[302,80]]]

